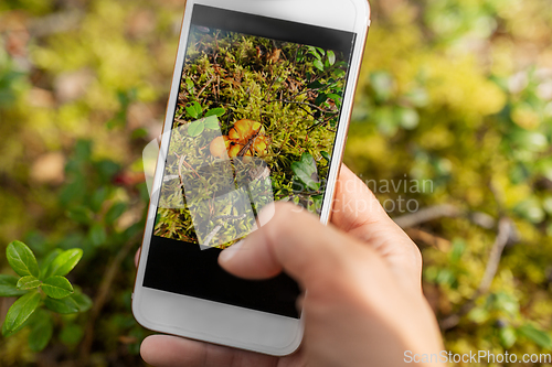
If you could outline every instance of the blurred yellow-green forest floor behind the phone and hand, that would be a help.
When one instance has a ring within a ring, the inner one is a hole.
[[[382,202],[414,201],[416,211],[388,209],[423,251],[447,349],[551,353],[550,1],[371,2],[346,163]],[[0,366],[142,364],[148,332],[130,313],[148,199],[141,151],[161,130],[182,10],[182,0],[0,3],[0,272],[12,273],[14,239],[39,261],[81,247],[70,279],[93,300],[56,315],[41,352],[26,328],[0,337]],[[431,184],[414,190],[415,180]],[[12,302],[0,299],[0,321]]]

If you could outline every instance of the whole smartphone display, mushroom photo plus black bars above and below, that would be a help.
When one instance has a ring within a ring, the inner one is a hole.
[[[355,34],[194,6],[144,287],[299,317],[217,265],[276,201],[320,215]]]

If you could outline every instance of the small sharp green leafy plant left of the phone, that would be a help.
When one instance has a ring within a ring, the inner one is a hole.
[[[57,314],[85,312],[91,299],[76,290],[65,276],[83,257],[82,249],[53,250],[39,266],[33,251],[21,241],[6,250],[10,267],[19,277],[0,274],[0,296],[19,296],[2,324],[2,335],[10,336],[30,327],[29,346],[42,350],[50,342]]]

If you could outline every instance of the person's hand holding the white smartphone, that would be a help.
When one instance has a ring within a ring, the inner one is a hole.
[[[262,214],[263,215],[263,214]],[[305,337],[277,358],[176,336],[155,335],[142,358],[163,366],[400,366],[404,353],[443,349],[435,316],[422,294],[417,247],[346,166],[332,225],[291,204],[219,258],[229,272],[265,279],[285,270],[308,290],[301,300]]]

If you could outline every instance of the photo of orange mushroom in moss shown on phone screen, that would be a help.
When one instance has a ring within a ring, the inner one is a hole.
[[[202,25],[188,45],[155,236],[226,248],[272,202],[320,214],[347,55]]]

